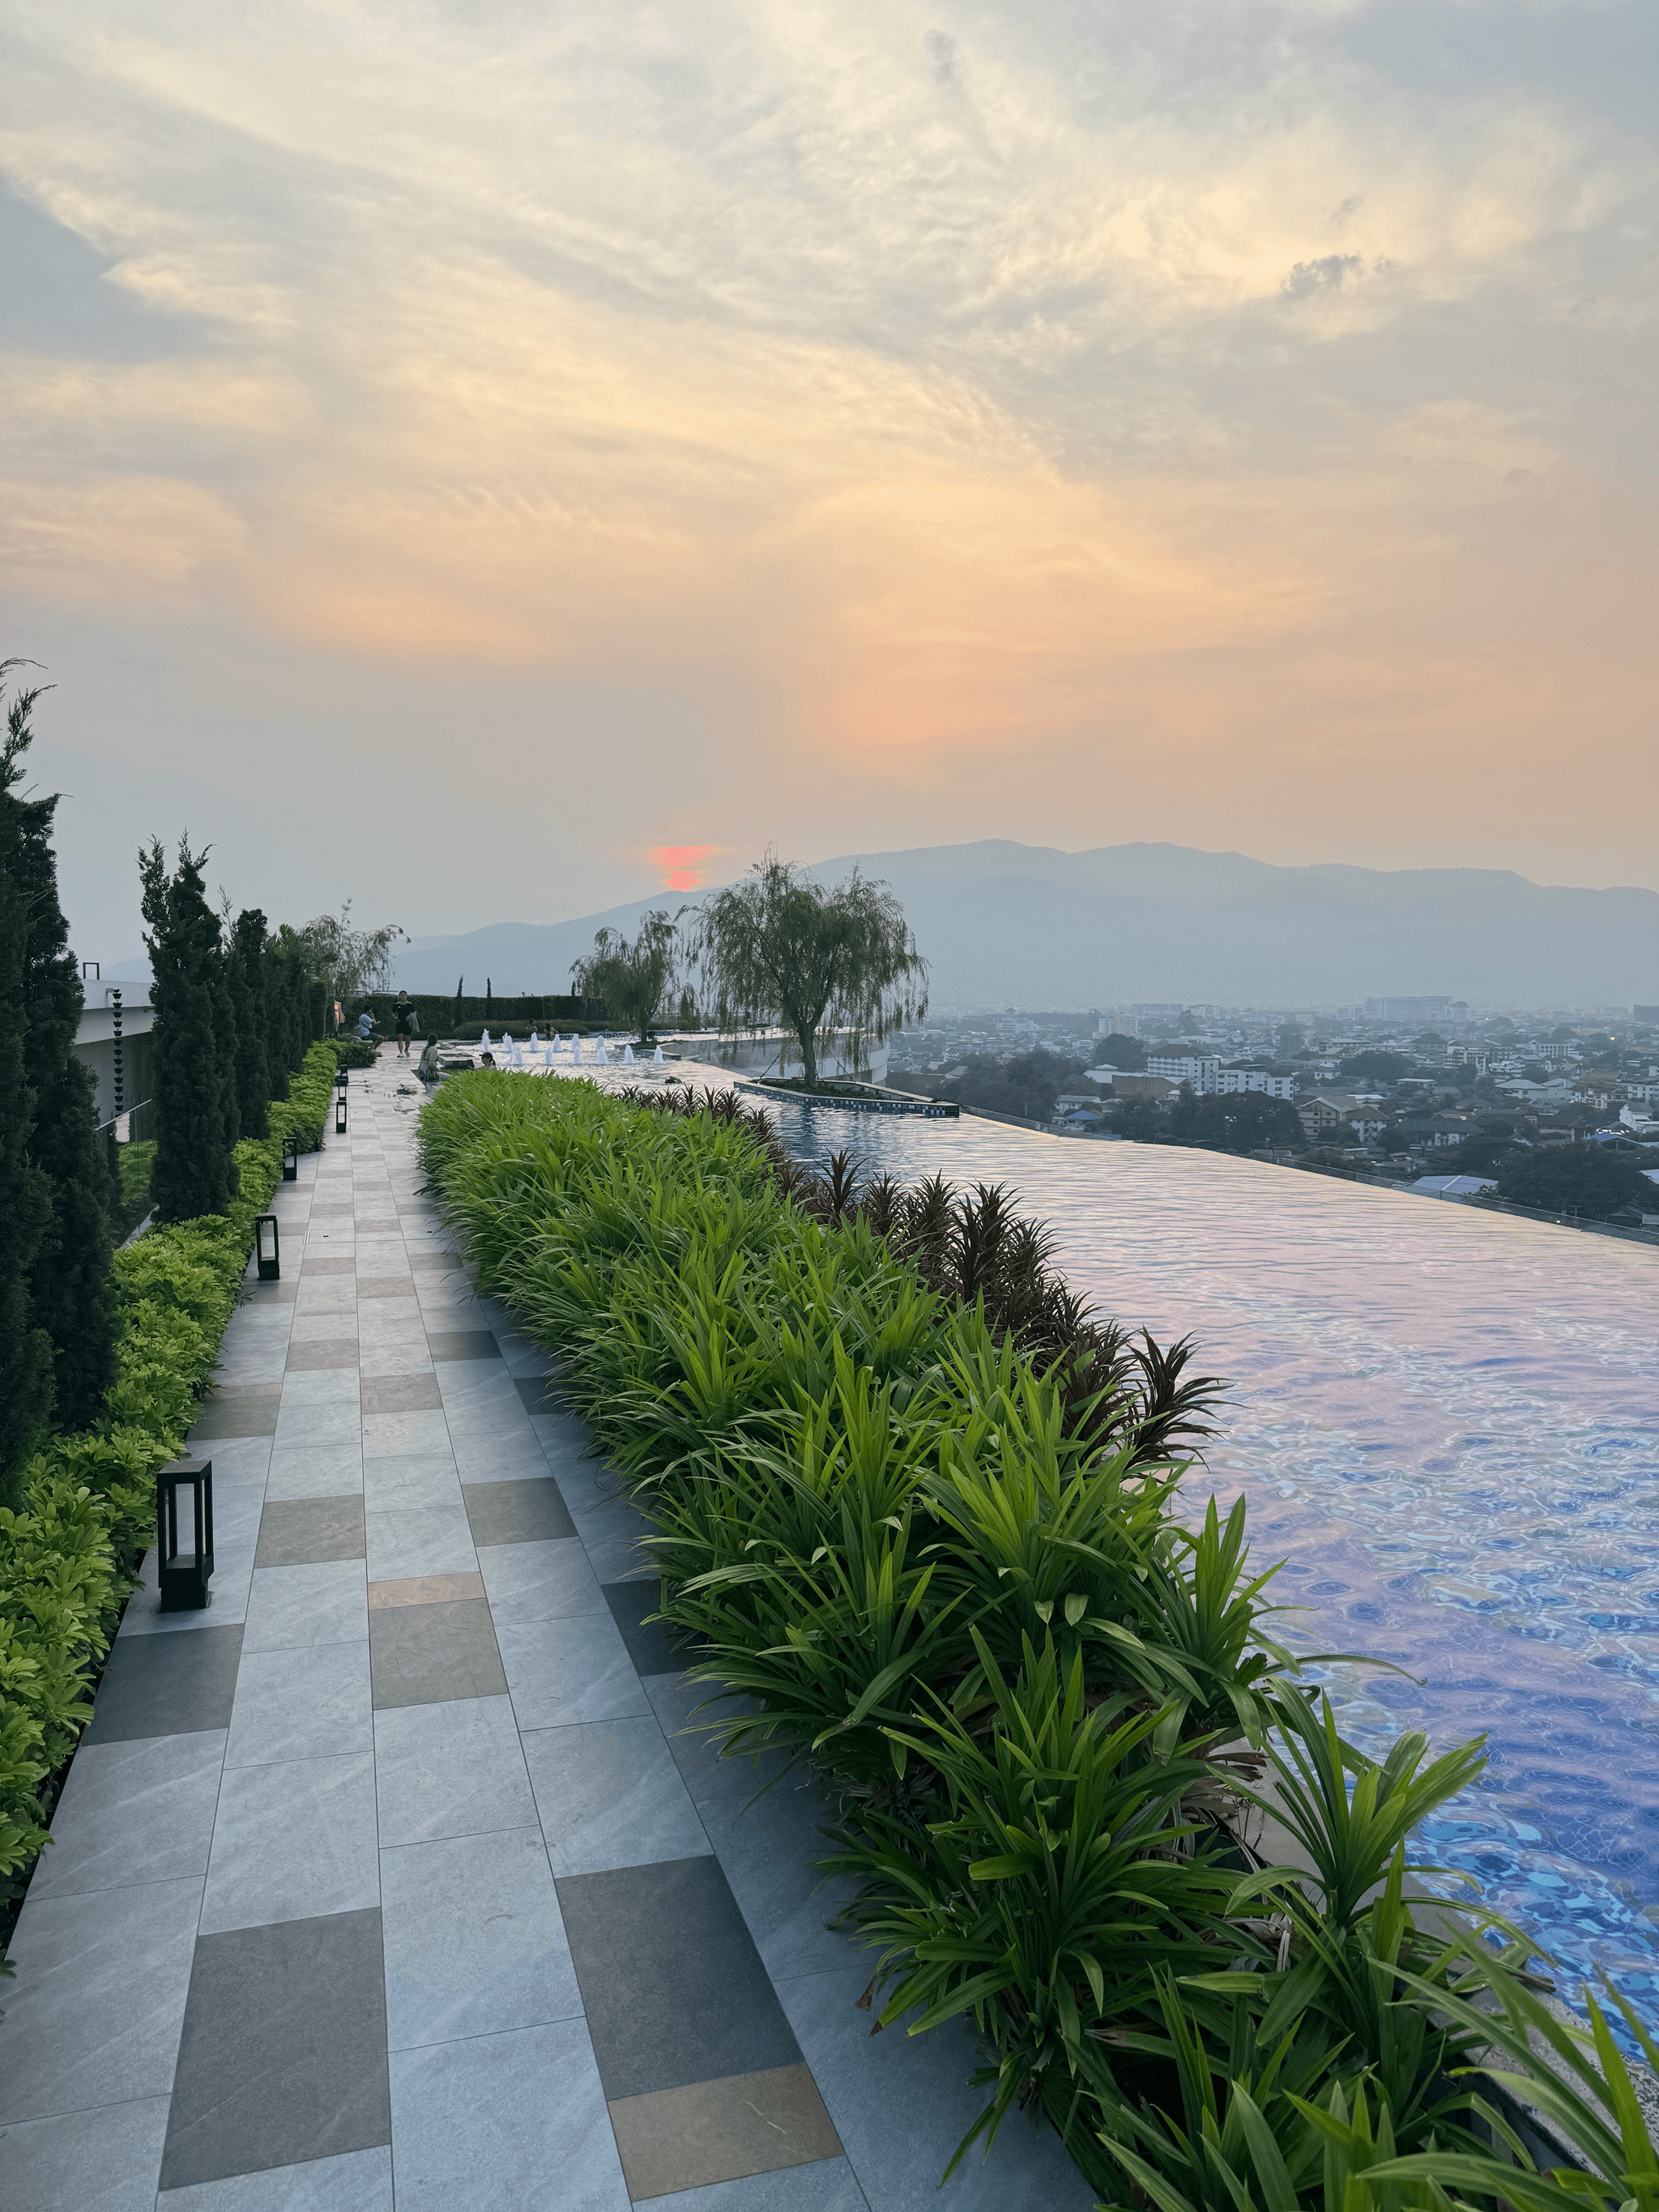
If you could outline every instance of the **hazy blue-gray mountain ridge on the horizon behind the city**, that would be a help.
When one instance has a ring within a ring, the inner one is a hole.
[[[1579,891],[1475,867],[1272,867],[1237,852],[1104,845],[1051,852],[987,838],[854,860],[905,905],[933,964],[933,1009],[1115,1006],[1133,1000],[1285,1006],[1447,993],[1484,1004],[1659,1000],[1659,891]],[[411,991],[566,991],[593,931],[633,931],[672,891],[575,922],[495,922],[414,938]]]

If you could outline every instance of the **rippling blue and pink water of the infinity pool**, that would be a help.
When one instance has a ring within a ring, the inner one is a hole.
[[[779,1108],[801,1159],[1006,1181],[1095,1303],[1230,1378],[1250,1498],[1349,1732],[1484,1732],[1427,1840],[1659,2026],[1659,1250],[1407,1192],[993,1121]]]

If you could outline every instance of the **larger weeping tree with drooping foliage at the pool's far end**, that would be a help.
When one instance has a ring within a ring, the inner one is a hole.
[[[807,1084],[838,1029],[880,1040],[927,1013],[927,962],[894,894],[858,869],[825,889],[774,852],[697,911],[690,964],[721,1029],[794,1035]]]

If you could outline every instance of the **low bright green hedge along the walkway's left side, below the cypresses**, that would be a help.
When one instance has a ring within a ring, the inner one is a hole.
[[[334,1046],[314,1044],[270,1135],[237,1146],[228,1214],[150,1230],[115,1254],[119,1340],[104,1420],[58,1436],[0,1509],[0,1898],[44,1849],[46,1792],[93,1714],[104,1652],[155,1528],[155,1471],[184,1449],[237,1305],[254,1214],[281,1177],[283,1139],[323,1141]]]

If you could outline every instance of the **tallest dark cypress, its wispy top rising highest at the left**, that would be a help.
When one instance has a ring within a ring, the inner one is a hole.
[[[97,1135],[97,1077],[75,1053],[82,982],[58,905],[58,794],[13,792],[35,697],[20,692],[11,701],[0,761],[0,849],[24,911],[18,1035],[33,1093],[29,1164],[44,1177],[51,1206],[29,1263],[29,1303],[31,1327],[51,1343],[53,1413],[62,1427],[84,1429],[115,1378],[108,1161]]]

